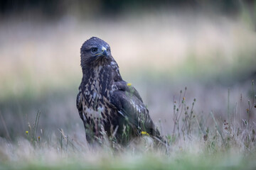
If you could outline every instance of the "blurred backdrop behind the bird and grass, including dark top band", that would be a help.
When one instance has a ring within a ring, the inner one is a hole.
[[[44,135],[62,128],[85,139],[75,99],[80,47],[92,36],[110,44],[123,79],[164,134],[172,132],[174,103],[185,87],[187,105],[196,98],[205,125],[210,111],[220,122],[228,114],[247,118],[256,1],[2,0],[0,137],[25,136],[39,111]]]

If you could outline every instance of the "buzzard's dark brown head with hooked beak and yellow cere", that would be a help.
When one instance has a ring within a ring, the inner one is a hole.
[[[110,45],[100,38],[92,37],[85,41],[80,52],[82,68],[109,64],[112,60]]]

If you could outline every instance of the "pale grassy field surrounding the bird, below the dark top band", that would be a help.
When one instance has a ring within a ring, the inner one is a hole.
[[[107,41],[166,139],[90,147],[75,98],[80,46]],[[0,169],[255,169],[256,33],[237,17],[161,11],[115,20],[2,19]]]

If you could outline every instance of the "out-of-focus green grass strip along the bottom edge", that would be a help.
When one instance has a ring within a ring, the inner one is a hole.
[[[221,159],[220,159],[221,157]],[[16,169],[254,169],[255,157],[232,157],[225,155],[176,154],[176,157],[156,157],[152,154],[140,156],[112,157],[102,156],[97,160],[87,161],[63,158],[57,164],[45,164],[43,161],[16,164]],[[10,168],[10,166],[7,166]]]

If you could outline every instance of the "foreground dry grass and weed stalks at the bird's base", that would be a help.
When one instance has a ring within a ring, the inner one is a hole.
[[[254,86],[252,81],[252,91]],[[46,135],[38,128],[38,111],[33,123],[28,123],[28,132],[16,142],[0,138],[0,169],[255,169],[255,91],[245,101],[246,109],[242,108],[245,119],[229,111],[232,103],[228,102],[229,120],[210,111],[210,121],[194,110],[198,101],[189,101],[188,92],[185,88],[174,99],[174,127],[166,134],[167,151],[154,147],[147,135],[128,147],[112,145],[107,139],[102,147],[90,147],[77,137],[83,130],[59,129]],[[228,90],[227,98],[231,95]]]

